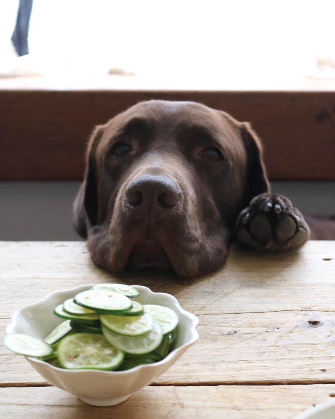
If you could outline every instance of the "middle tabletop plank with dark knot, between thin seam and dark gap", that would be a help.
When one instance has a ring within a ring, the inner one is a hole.
[[[199,341],[155,384],[335,383],[333,313],[206,315],[199,320]],[[0,321],[0,329],[7,323]],[[46,382],[24,357],[3,346],[0,359],[0,386]]]

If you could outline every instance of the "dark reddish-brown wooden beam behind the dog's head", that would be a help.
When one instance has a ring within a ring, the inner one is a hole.
[[[0,91],[0,180],[73,180],[96,124],[148,99],[191,100],[250,121],[272,180],[334,180],[332,91]],[[307,170],[308,169],[308,170]]]

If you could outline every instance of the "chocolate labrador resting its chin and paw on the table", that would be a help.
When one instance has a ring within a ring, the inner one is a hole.
[[[193,102],[139,103],[96,127],[73,221],[96,265],[183,278],[222,266],[234,237],[284,251],[310,235],[289,199],[270,194],[250,125]]]

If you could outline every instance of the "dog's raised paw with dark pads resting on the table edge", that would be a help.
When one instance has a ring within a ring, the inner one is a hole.
[[[260,194],[238,216],[234,235],[244,246],[281,251],[304,244],[309,228],[289,199]]]

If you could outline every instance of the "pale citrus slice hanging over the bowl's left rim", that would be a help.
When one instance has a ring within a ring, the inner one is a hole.
[[[28,357],[46,357],[51,355],[53,348],[41,339],[32,336],[15,333],[6,335],[3,344],[12,352]]]

